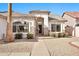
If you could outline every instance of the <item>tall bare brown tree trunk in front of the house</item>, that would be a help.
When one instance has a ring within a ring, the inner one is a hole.
[[[6,30],[6,41],[12,42],[13,32],[12,32],[12,4],[8,4],[8,16],[7,16],[7,30]]]

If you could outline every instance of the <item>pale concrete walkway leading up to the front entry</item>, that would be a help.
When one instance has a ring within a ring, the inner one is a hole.
[[[35,43],[32,49],[31,56],[49,56],[48,49],[44,44],[43,40]]]

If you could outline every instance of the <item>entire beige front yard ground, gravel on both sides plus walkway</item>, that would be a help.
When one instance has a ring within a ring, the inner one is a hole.
[[[69,42],[78,38],[41,38],[0,44],[0,55],[6,56],[79,56],[79,49]]]

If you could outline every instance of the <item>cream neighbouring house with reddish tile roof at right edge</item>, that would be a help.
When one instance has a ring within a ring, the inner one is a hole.
[[[72,27],[72,36],[79,37],[79,12],[65,12],[62,17],[67,20],[65,27]]]

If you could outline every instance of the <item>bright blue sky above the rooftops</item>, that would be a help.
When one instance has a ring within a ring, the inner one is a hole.
[[[0,3],[0,11],[7,11],[8,4]],[[79,3],[13,3],[12,10],[28,13],[31,10],[48,10],[51,13],[62,15],[66,11],[79,11]]]

